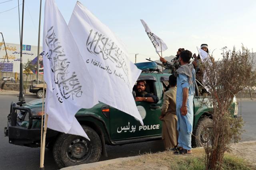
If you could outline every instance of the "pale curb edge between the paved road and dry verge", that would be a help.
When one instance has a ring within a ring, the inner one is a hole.
[[[256,141],[244,141],[244,142],[238,142],[238,143],[256,143]],[[231,146],[236,143],[232,143]],[[198,148],[203,148],[203,147],[198,147]],[[100,162],[93,162],[89,164],[81,164],[81,165],[76,165],[76,166],[68,166],[66,168],[61,168],[61,170],[92,170],[92,169],[99,169],[100,166],[106,166],[110,164],[116,164],[116,163],[121,163],[123,161],[127,160],[134,160],[137,158],[140,158],[142,155],[138,156],[131,156],[131,157],[125,157],[125,158],[116,158],[116,159],[110,159],[110,160],[104,160]]]

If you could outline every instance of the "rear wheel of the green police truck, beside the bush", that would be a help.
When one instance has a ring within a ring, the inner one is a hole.
[[[212,135],[213,122],[209,117],[202,117],[199,119],[196,128],[192,135],[192,146],[193,147],[203,147],[207,143],[211,145],[211,135]]]

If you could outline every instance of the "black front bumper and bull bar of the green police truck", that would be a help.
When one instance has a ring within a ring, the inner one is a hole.
[[[16,110],[25,110],[29,114],[28,127],[22,127],[17,124]],[[39,147],[41,140],[41,128],[32,128],[33,119],[38,117],[32,116],[31,109],[16,106],[12,103],[11,113],[8,115],[7,127],[4,127],[4,135],[9,137],[9,143],[28,147]],[[58,131],[47,129],[46,141],[58,135]]]

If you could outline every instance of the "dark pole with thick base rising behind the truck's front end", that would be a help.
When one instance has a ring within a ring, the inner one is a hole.
[[[23,39],[23,21],[24,19],[24,0],[22,2],[22,26],[21,26],[21,40],[20,40],[20,95],[18,105],[22,106],[25,103],[24,92],[23,92],[23,63],[22,63],[22,39]]]

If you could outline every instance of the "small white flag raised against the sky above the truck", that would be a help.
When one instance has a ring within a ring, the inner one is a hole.
[[[156,53],[165,51],[168,49],[167,45],[164,43],[164,41],[162,39],[160,39],[156,34],[152,33],[152,31],[150,30],[150,28],[148,27],[147,23],[144,20],[140,20],[142,25],[145,28],[145,31],[150,39],[150,41],[152,42],[152,44],[154,45],[155,49],[156,49]],[[162,46],[162,48],[161,48]]]

